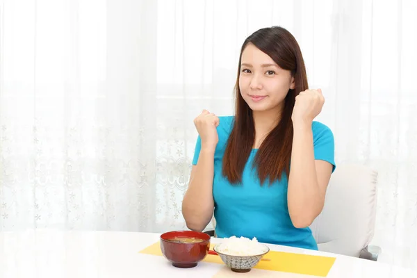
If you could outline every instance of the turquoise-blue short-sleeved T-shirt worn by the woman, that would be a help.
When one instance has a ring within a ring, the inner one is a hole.
[[[215,233],[219,238],[231,236],[256,237],[260,242],[288,245],[318,250],[310,228],[297,229],[288,213],[286,174],[280,181],[261,186],[252,163],[257,149],[252,149],[242,175],[242,184],[232,185],[222,175],[222,158],[227,140],[234,124],[234,116],[220,117],[217,128],[219,142],[214,154],[213,199]],[[334,163],[334,138],[332,131],[313,122],[314,156],[316,159]],[[197,138],[193,165],[197,165],[201,139]]]

